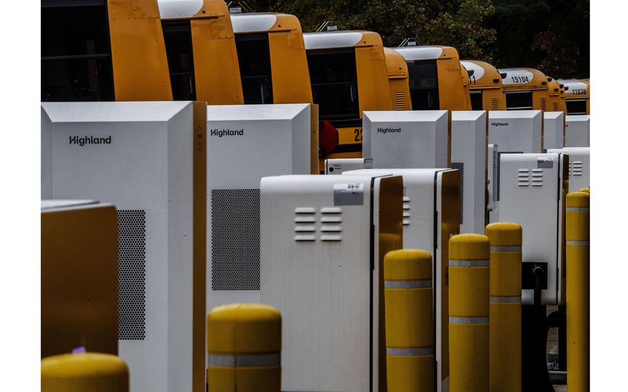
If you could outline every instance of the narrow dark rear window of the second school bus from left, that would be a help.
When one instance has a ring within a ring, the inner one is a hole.
[[[164,43],[166,44],[173,99],[175,101],[194,101],[196,89],[190,21],[161,21],[161,27],[164,29]]]

